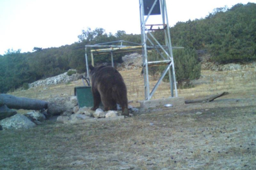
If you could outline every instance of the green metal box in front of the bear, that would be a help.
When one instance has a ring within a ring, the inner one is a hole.
[[[74,95],[78,99],[79,108],[93,106],[93,94],[91,93],[91,86],[79,86],[74,88]]]

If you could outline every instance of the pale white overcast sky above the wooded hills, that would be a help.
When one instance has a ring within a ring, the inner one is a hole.
[[[248,2],[256,0],[166,0],[169,25]],[[160,16],[152,19],[154,24],[161,23]],[[8,49],[32,52],[34,47],[70,45],[87,28],[139,34],[139,0],[0,0],[0,55]]]

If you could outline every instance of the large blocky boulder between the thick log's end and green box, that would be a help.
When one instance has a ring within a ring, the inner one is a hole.
[[[73,112],[73,108],[76,106],[74,98],[52,98],[48,101],[47,113],[49,115],[61,115],[64,111]]]

